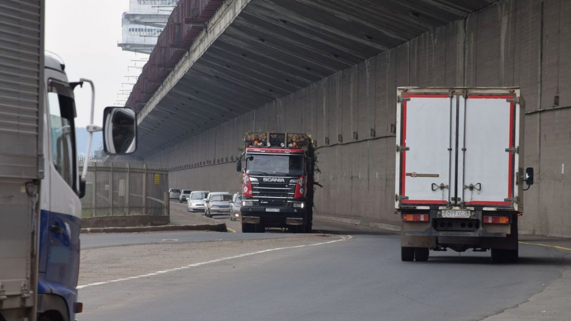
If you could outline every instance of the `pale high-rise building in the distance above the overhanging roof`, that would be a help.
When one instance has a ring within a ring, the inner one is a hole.
[[[123,13],[123,50],[151,54],[178,0],[130,0]]]

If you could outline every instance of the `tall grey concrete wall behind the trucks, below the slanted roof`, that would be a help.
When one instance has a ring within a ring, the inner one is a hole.
[[[520,86],[526,100],[524,234],[571,237],[571,2],[506,0],[158,153],[172,187],[240,189],[247,131],[308,132],[317,214],[396,221],[397,86]],[[190,169],[192,165],[198,166]],[[567,168],[565,168],[567,167]]]

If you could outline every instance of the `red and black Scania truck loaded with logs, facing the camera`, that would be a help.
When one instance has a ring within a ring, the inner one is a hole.
[[[236,170],[243,172],[243,233],[263,233],[266,227],[311,232],[314,153],[305,133],[246,134],[236,161]]]

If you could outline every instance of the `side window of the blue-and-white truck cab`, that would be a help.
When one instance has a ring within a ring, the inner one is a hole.
[[[51,159],[63,180],[75,188],[75,104],[71,88],[50,81],[47,106],[50,112]]]

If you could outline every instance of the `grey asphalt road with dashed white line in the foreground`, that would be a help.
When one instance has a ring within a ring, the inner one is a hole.
[[[115,241],[82,251],[78,319],[482,320],[526,302],[571,265],[569,251],[527,244],[517,265],[452,251],[401,262],[397,234],[316,223],[336,234],[171,232],[138,245],[129,234],[86,235]]]

